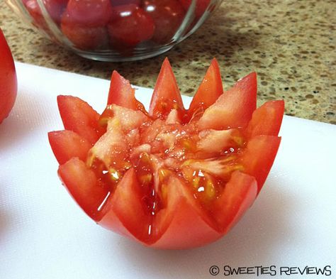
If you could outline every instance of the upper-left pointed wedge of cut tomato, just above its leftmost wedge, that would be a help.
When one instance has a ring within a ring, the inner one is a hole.
[[[103,134],[98,124],[99,114],[78,97],[57,96],[58,109],[66,130],[74,131],[95,143]]]

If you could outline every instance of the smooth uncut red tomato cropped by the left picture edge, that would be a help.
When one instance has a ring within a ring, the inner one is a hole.
[[[0,124],[9,115],[18,92],[18,82],[11,49],[0,29]]]

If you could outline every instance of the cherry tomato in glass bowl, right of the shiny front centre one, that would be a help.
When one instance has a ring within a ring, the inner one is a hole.
[[[169,43],[184,19],[184,9],[177,0],[145,0],[142,8],[153,18],[155,32],[152,40]]]

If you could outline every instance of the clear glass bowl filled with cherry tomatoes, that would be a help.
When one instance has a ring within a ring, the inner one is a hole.
[[[166,52],[223,0],[6,0],[45,37],[84,58],[130,61]]]

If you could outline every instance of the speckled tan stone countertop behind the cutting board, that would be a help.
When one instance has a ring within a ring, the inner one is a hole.
[[[0,26],[17,61],[104,79],[118,70],[143,87],[154,87],[161,62],[168,56],[182,94],[190,96],[216,57],[226,89],[256,71],[258,104],[284,99],[288,115],[336,124],[334,0],[224,1],[177,47],[138,62],[80,58],[35,33],[4,1],[0,4]]]

